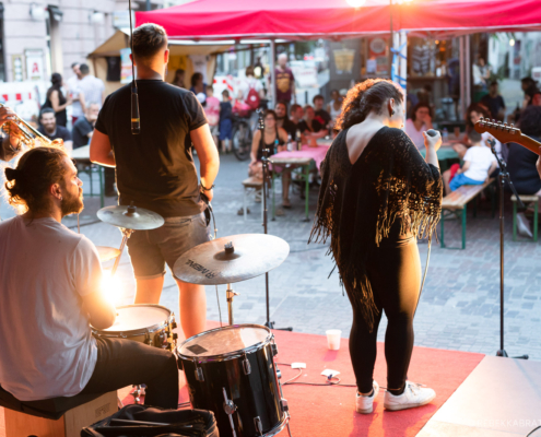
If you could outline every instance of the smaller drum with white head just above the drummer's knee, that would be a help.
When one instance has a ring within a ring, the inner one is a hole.
[[[126,305],[117,308],[117,318],[110,328],[92,328],[92,333],[172,351],[177,340],[177,334],[173,332],[176,327],[173,312],[161,305]]]

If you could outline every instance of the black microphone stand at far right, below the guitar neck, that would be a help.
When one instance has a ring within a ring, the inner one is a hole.
[[[496,153],[496,142],[492,140],[487,140],[489,144],[491,144],[491,151],[496,157],[496,161],[499,165],[499,350],[496,352],[496,356],[508,357],[507,352],[505,352],[504,347],[504,187],[505,182],[509,186],[510,190],[517,198],[518,204],[520,208],[525,208],[522,201],[518,197],[517,190],[510,180],[509,173],[507,172],[507,166],[505,161],[499,160],[499,156]],[[528,355],[514,356],[513,358],[519,359],[528,359]]]

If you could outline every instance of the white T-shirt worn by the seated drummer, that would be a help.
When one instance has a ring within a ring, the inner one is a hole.
[[[54,218],[0,222],[0,385],[21,401],[75,395],[97,358],[81,296],[99,286],[95,246]]]

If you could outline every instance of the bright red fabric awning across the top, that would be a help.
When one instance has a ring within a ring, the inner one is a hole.
[[[172,39],[341,39],[389,33],[389,8],[387,0],[358,9],[345,0],[197,0],[137,12],[136,24],[160,24]],[[412,0],[393,4],[392,15],[395,31],[442,36],[541,29],[540,0]]]

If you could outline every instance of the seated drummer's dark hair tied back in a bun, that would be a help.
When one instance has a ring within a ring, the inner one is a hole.
[[[8,203],[21,213],[47,210],[47,190],[52,184],[63,184],[66,167],[62,160],[67,156],[63,149],[55,145],[25,152],[16,168],[5,168]]]

